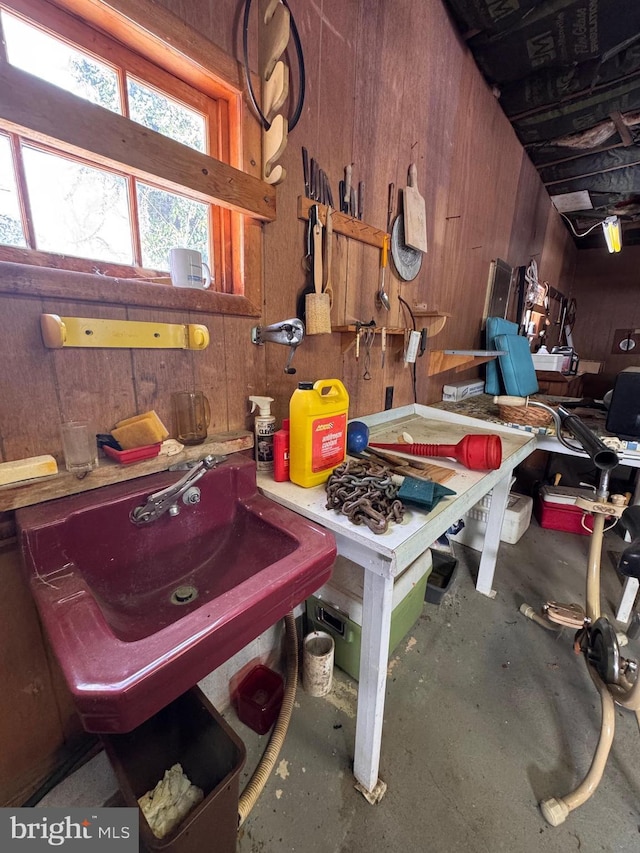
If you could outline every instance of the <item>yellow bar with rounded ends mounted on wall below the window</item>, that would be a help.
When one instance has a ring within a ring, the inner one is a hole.
[[[142,323],[42,314],[40,328],[49,349],[107,347],[136,349],[206,349],[209,330],[197,323]]]

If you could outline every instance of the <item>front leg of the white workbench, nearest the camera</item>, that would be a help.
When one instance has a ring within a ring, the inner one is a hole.
[[[362,646],[353,772],[358,790],[379,802],[386,784],[378,779],[384,695],[389,662],[393,578],[367,568],[362,598]]]

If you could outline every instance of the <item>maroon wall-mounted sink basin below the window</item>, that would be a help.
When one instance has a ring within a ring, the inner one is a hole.
[[[165,472],[16,512],[23,566],[87,731],[128,732],[304,601],[333,535],[261,495],[230,458],[198,504],[135,525]]]

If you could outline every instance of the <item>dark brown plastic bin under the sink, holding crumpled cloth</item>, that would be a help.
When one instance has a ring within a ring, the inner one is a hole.
[[[204,693],[194,687],[132,732],[102,735],[125,804],[138,799],[176,763],[204,799],[164,838],[140,810],[140,841],[148,851],[235,853],[239,775],[246,751]],[[139,808],[139,807],[138,807]]]

